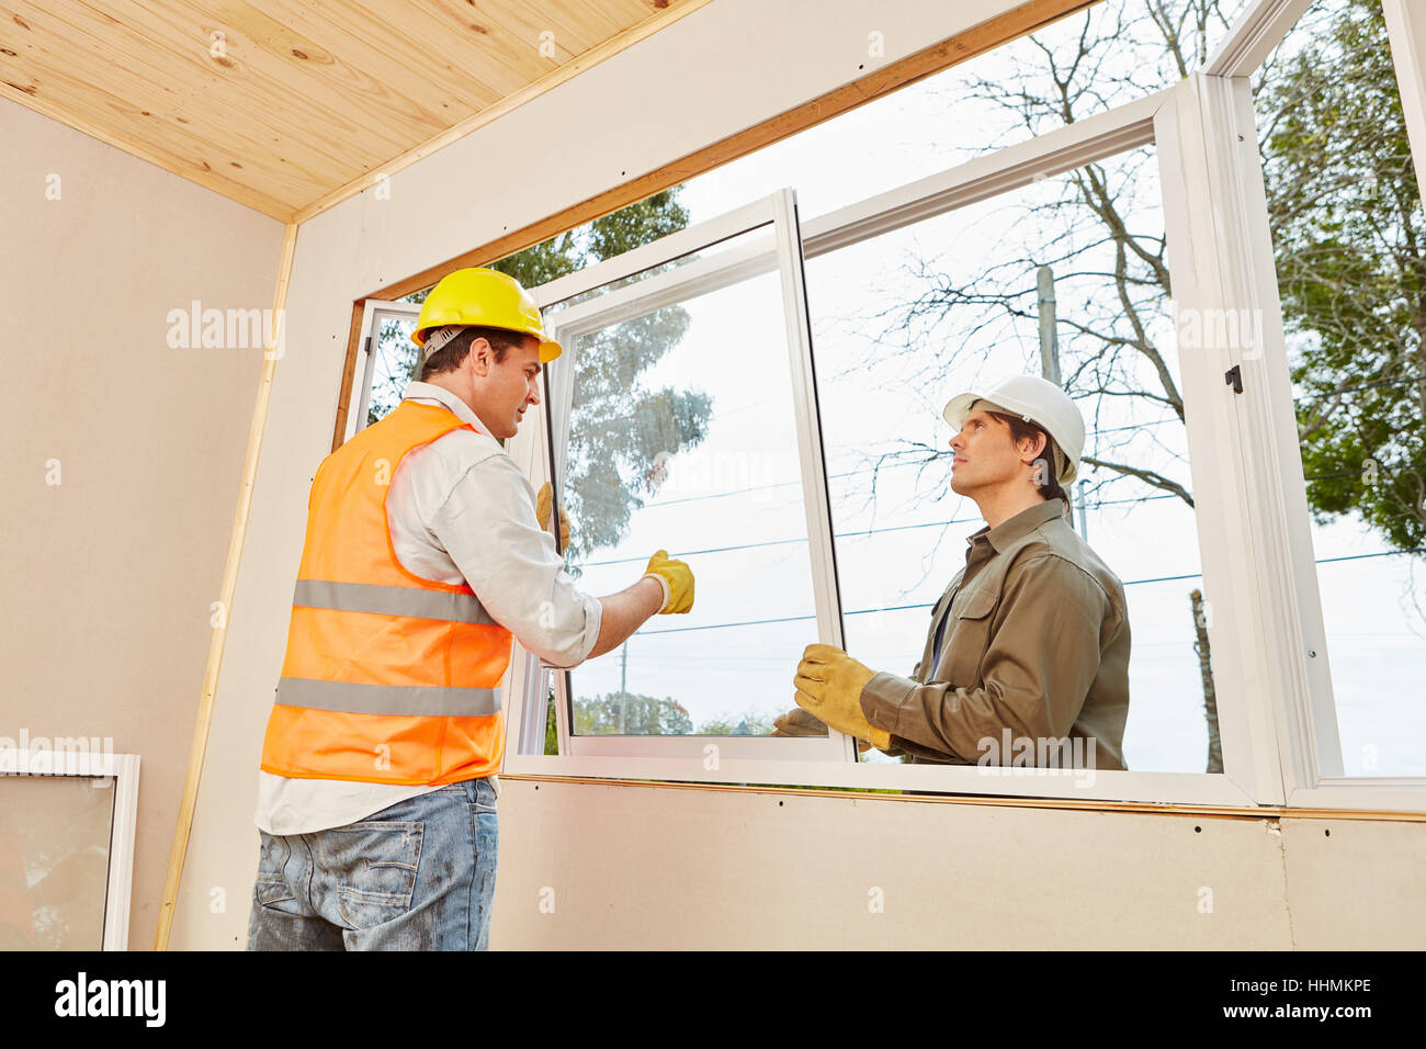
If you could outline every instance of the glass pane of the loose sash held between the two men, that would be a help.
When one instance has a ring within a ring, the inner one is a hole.
[[[747,243],[767,230],[747,234]],[[623,589],[667,549],[687,615],[569,674],[576,735],[767,735],[817,641],[781,278],[764,271],[573,340],[570,571]]]

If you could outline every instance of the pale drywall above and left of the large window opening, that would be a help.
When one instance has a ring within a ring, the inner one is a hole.
[[[173,948],[245,942],[262,731],[352,300],[1017,6],[717,0],[302,224]]]

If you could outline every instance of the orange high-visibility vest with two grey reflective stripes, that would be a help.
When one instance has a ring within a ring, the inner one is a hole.
[[[402,401],[318,467],[265,772],[438,785],[499,769],[511,632],[469,587],[408,572],[386,524],[402,457],[462,427]]]

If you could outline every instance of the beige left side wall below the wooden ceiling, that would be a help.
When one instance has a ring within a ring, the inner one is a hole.
[[[0,735],[141,755],[147,948],[261,365],[170,348],[167,314],[270,310],[282,225],[4,100],[0,143]]]

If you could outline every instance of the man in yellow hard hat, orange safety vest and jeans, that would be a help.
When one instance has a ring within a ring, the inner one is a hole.
[[[560,354],[518,281],[446,275],[412,340],[421,380],[312,480],[250,951],[483,949],[512,638],[575,667],[693,605],[693,572],[662,549],[603,598],[565,571],[536,514],[548,491],[501,444]]]

